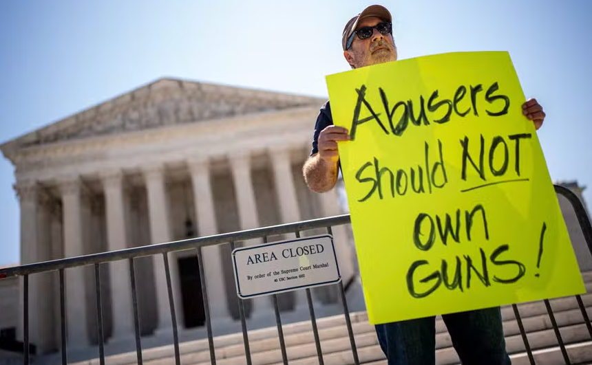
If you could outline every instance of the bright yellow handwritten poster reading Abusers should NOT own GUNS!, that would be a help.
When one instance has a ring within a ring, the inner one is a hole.
[[[371,323],[585,292],[507,52],[326,80]]]

